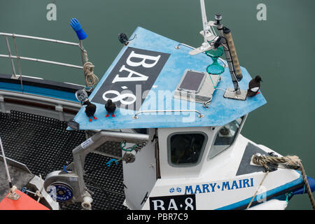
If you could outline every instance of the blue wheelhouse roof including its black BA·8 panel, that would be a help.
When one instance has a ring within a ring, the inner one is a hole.
[[[228,69],[221,75],[209,109],[200,103],[175,99],[174,90],[186,69],[206,71],[212,63],[211,58],[202,53],[189,55],[190,48],[181,45],[180,49],[176,49],[179,42],[141,27],[137,27],[131,38],[134,36],[90,94],[90,102],[97,105],[94,114],[97,120],[89,122],[85,107],[78,111],[75,120],[80,124],[80,130],[221,126],[266,103],[261,93],[247,97],[245,101],[223,97],[223,90],[233,88]],[[239,86],[241,90],[247,90],[251,76],[244,67],[241,67],[241,72],[243,78]],[[115,117],[111,114],[105,117],[106,99],[116,102]],[[137,100],[133,102],[134,99]],[[124,103],[132,107],[128,108]],[[204,117],[199,118],[196,112],[160,112],[139,113],[137,119],[133,118],[137,111],[174,109],[197,110]]]

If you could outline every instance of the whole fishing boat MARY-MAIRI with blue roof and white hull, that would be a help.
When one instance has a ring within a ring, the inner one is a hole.
[[[76,19],[78,43],[0,33],[13,68],[0,74],[0,209],[23,209],[25,197],[55,210],[286,209],[304,193],[314,203],[315,181],[296,156],[241,134],[267,101],[223,16],[208,21],[204,0],[200,8],[200,47],[137,27],[118,36],[123,48],[100,80]],[[18,38],[73,45],[83,66],[19,56]],[[83,70],[86,85],[22,76],[22,59]]]

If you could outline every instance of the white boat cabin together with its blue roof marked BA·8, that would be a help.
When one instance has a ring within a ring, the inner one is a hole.
[[[90,121],[84,107],[75,120],[80,130],[148,134],[134,162],[123,162],[126,206],[148,209],[148,197],[161,189],[162,195],[181,193],[187,189],[174,188],[179,183],[214,178],[213,171],[228,165],[219,155],[233,148],[247,114],[266,101],[262,94],[246,100],[224,97],[223,90],[232,87],[230,72],[209,75],[205,71],[212,61],[205,54],[189,55],[185,45],[178,48],[180,43],[141,27],[132,36],[88,98],[97,106],[97,120]],[[239,86],[247,90],[251,76],[241,71]],[[115,117],[105,117],[108,99],[117,106]]]

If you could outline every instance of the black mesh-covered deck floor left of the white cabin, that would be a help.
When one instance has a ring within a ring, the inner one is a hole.
[[[6,157],[27,165],[32,174],[41,174],[43,179],[72,162],[73,148],[85,141],[84,131],[66,131],[65,122],[20,111],[0,113],[0,124]],[[126,209],[123,165],[107,167],[109,160],[96,153],[85,160],[85,183],[94,193],[92,209]],[[80,210],[81,206],[62,205],[61,209]]]

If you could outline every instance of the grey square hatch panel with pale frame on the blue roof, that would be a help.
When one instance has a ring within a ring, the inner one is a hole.
[[[187,91],[187,92],[198,92],[202,83],[204,82],[203,72],[186,70],[183,76],[183,80],[181,80],[181,85],[179,86],[179,90]]]

